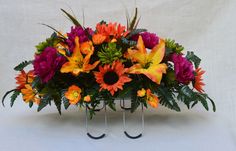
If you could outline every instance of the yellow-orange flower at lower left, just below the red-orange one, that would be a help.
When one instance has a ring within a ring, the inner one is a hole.
[[[23,100],[28,102],[35,102],[37,104],[40,103],[40,97],[35,89],[32,88],[31,85],[26,84],[24,88],[21,89],[21,93],[23,95]]]

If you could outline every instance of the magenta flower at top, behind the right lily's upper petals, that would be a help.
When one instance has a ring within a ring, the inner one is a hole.
[[[133,40],[137,41],[139,35],[142,36],[143,42],[146,48],[152,49],[159,43],[159,37],[155,33],[143,32],[141,34],[132,37]]]

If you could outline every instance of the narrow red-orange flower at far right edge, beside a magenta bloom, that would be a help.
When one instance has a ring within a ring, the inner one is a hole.
[[[194,81],[194,86],[193,86],[193,87],[194,87],[198,92],[203,93],[203,92],[204,92],[203,86],[204,86],[205,84],[202,82],[202,81],[203,81],[202,75],[205,73],[205,71],[202,70],[201,68],[197,68],[197,69],[195,70],[195,73],[196,73],[196,75],[195,75],[195,81]]]

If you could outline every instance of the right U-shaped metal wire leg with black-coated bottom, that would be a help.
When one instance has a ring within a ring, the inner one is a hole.
[[[144,112],[143,112],[143,104],[141,105],[142,107],[142,132],[139,134],[139,135],[136,135],[136,136],[131,136],[127,131],[126,131],[126,117],[125,117],[125,113],[126,113],[126,110],[130,110],[128,108],[125,108],[125,102],[124,102],[124,99],[123,99],[123,105],[122,107],[124,107],[123,109],[123,127],[124,127],[124,134],[128,137],[128,138],[131,138],[131,139],[137,139],[137,138],[140,138],[143,134],[143,131],[144,131]]]

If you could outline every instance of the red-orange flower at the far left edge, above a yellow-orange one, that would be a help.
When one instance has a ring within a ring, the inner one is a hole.
[[[31,84],[34,80],[34,77],[35,75],[33,70],[29,71],[28,73],[22,70],[15,78],[16,84],[18,85],[16,89],[21,90],[26,84]]]

